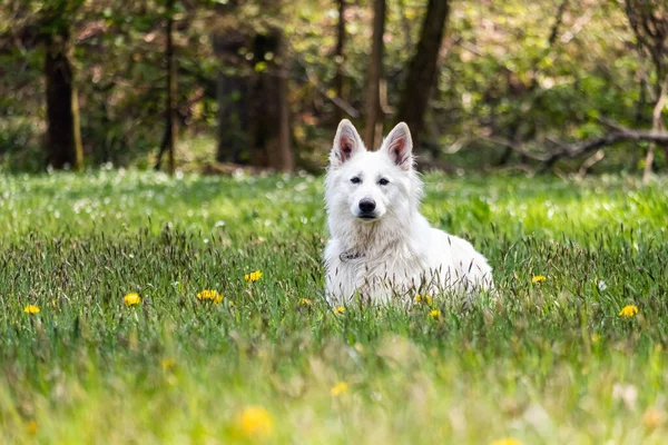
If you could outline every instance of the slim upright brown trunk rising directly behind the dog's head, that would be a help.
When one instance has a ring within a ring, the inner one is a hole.
[[[376,125],[381,123],[381,78],[383,77],[383,34],[385,32],[385,0],[374,0],[373,43],[371,65],[369,67],[369,85],[366,87],[366,128],[364,144],[373,150]]]

